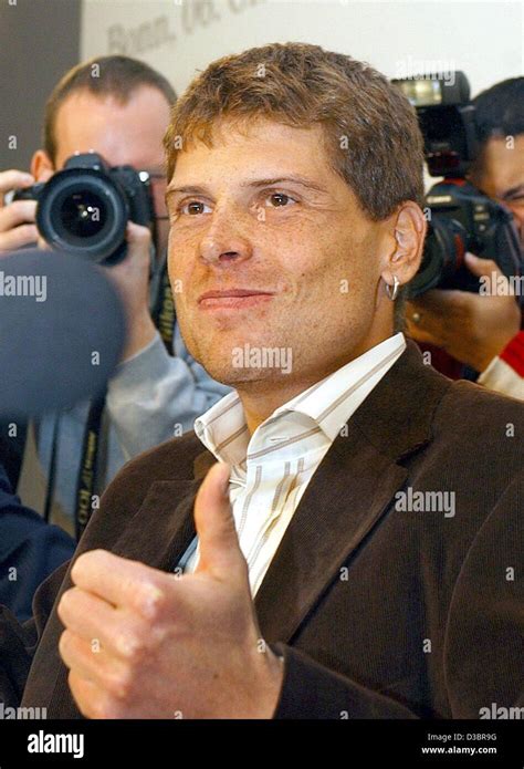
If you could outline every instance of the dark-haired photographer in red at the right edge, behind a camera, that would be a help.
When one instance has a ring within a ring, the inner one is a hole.
[[[472,103],[482,152],[469,178],[511,210],[524,247],[524,77],[499,83]],[[500,284],[494,261],[473,254],[465,261],[473,274],[496,276]],[[417,342],[436,345],[480,372],[479,384],[524,399],[524,333],[511,292],[429,291],[408,304],[406,320]]]

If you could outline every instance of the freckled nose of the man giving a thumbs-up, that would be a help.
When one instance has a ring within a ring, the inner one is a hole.
[[[200,241],[200,258],[217,266],[250,259],[252,246],[245,227],[232,214],[213,214],[213,221]]]

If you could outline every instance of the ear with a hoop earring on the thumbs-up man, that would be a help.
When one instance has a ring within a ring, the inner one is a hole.
[[[404,285],[417,274],[420,267],[428,222],[420,207],[412,200],[401,204],[394,216],[391,226],[395,248],[387,258],[388,263],[381,278],[392,285],[396,276]]]

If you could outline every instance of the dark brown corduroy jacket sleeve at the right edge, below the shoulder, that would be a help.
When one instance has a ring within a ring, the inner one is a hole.
[[[524,470],[509,484],[462,563],[444,645],[453,718],[501,717],[493,716],[495,709],[524,706],[523,511]]]

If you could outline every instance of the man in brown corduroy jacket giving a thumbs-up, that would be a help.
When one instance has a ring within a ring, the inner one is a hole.
[[[4,612],[4,696],[64,718],[516,705],[523,407],[394,334],[426,229],[408,102],[274,43],[210,64],[166,148],[180,328],[235,392],[107,489],[36,595],[27,683],[35,630]]]

